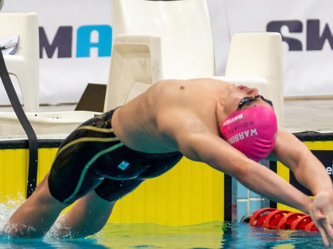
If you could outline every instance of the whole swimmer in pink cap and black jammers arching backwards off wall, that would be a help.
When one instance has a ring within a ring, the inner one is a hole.
[[[315,198],[258,163],[269,154]],[[80,125],[61,144],[50,172],[4,232],[43,236],[61,210],[77,200],[57,222],[72,236],[94,234],[119,198],[168,171],[182,156],[309,213],[324,244],[333,240],[333,188],[323,165],[293,134],[277,128],[272,102],[258,89],[216,79],[159,81],[124,106]],[[66,233],[59,230],[57,236]]]

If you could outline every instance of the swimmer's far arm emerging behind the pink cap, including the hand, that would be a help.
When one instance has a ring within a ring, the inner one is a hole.
[[[323,242],[333,243],[333,190],[325,167],[293,134],[278,131],[275,154],[292,170],[297,180],[315,195],[308,211],[321,233]]]

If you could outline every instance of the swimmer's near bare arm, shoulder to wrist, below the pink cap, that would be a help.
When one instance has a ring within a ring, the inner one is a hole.
[[[245,187],[269,199],[308,212],[307,208],[311,202],[309,197],[272,170],[248,159],[199,122],[195,126],[174,122],[170,124],[166,133],[177,141],[178,150],[189,159],[204,162],[231,175]]]

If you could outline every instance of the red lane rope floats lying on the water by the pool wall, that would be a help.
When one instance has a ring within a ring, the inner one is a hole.
[[[309,215],[273,208],[257,210],[249,224],[269,229],[318,231]]]

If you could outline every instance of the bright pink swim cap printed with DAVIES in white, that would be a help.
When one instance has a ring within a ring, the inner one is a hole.
[[[238,110],[221,125],[222,138],[249,159],[264,159],[275,146],[277,119],[270,106],[254,106]]]

